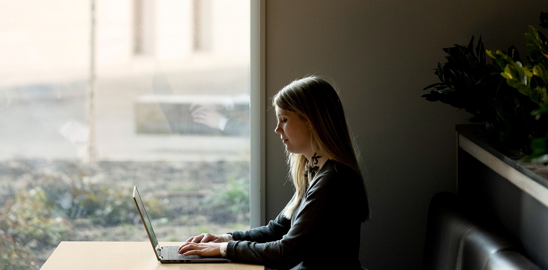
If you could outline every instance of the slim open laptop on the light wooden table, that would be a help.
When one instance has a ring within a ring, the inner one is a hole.
[[[139,210],[139,215],[141,216],[142,224],[145,225],[146,233],[149,235],[150,243],[154,249],[154,254],[156,258],[161,263],[186,263],[186,262],[228,262],[227,258],[222,257],[202,257],[199,255],[182,255],[178,254],[177,250],[179,246],[160,246],[158,245],[158,239],[154,234],[152,229],[152,224],[150,223],[149,216],[146,213],[145,206],[142,204],[141,196],[137,191],[137,187],[133,187],[133,200]]]

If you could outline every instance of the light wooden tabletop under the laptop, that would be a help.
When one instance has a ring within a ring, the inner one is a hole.
[[[182,242],[161,242],[180,245]],[[42,270],[62,269],[192,269],[264,270],[261,265],[245,263],[160,263],[147,242],[72,242],[62,241]]]

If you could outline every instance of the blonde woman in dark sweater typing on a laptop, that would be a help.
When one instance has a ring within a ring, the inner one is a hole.
[[[275,132],[288,153],[293,198],[267,226],[203,233],[189,238],[179,253],[222,255],[273,269],[361,269],[359,229],[369,206],[335,89],[320,77],[305,77],[282,88],[273,106]],[[343,211],[348,209],[351,215]]]

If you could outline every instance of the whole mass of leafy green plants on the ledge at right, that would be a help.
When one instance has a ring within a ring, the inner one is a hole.
[[[548,27],[547,14],[541,13],[543,27]],[[444,48],[447,62],[438,63],[434,72],[441,82],[425,87],[431,91],[422,97],[465,109],[473,115],[470,122],[486,122],[485,130],[501,150],[520,150],[548,161],[548,46],[534,27],[529,26],[526,38],[527,65],[515,47],[492,52],[481,37],[475,49],[473,37],[466,47]]]

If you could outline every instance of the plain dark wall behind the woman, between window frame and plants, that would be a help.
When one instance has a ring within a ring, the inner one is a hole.
[[[545,0],[266,0],[267,97],[307,74],[333,78],[362,149],[372,208],[362,266],[420,269],[429,200],[455,191],[454,125],[469,116],[420,97],[438,80],[432,69],[443,63],[442,48],[482,35],[488,49],[515,44],[524,54],[524,33],[541,11]],[[266,117],[270,219],[293,189],[273,109]],[[343,238],[344,228],[326,233],[336,249],[331,239]]]

